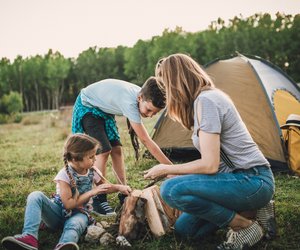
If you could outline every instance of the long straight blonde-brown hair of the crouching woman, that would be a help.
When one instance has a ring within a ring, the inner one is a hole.
[[[159,60],[155,75],[166,90],[167,114],[191,129],[194,101],[201,91],[214,88],[212,80],[194,59],[185,54],[173,54]]]

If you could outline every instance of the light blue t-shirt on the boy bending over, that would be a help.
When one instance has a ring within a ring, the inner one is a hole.
[[[137,97],[141,88],[130,82],[105,79],[81,90],[82,104],[141,123]]]

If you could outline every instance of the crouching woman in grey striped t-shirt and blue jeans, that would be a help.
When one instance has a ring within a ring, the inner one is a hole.
[[[242,249],[257,243],[263,229],[240,215],[268,205],[274,194],[270,164],[253,141],[232,100],[191,57],[170,55],[156,66],[166,88],[168,115],[191,129],[201,159],[159,164],[145,178],[177,175],[161,186],[162,198],[183,213],[176,233],[198,239],[229,226],[218,249]]]

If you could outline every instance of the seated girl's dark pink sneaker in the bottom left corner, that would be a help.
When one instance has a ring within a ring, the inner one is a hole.
[[[19,249],[29,249],[38,250],[38,241],[32,235],[15,235],[3,238],[1,241],[2,246],[5,249],[19,250]]]

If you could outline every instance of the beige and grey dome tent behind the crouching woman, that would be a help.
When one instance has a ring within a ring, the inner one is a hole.
[[[216,87],[235,103],[254,141],[273,170],[286,169],[286,150],[280,125],[289,114],[300,115],[300,89],[278,67],[256,56],[217,59],[205,66]],[[192,131],[165,116],[155,125],[153,140],[173,161],[200,157],[191,141]]]

